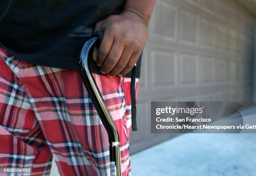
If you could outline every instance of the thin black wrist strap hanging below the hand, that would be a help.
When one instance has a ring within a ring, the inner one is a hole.
[[[136,65],[132,69],[131,76],[131,87],[130,87],[130,95],[131,95],[131,119],[132,119],[132,129],[133,131],[137,131],[137,121],[136,121]]]

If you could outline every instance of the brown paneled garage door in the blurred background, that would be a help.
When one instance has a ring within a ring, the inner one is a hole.
[[[174,134],[151,134],[151,101],[247,101],[253,16],[234,0],[158,0],[149,26],[131,153]]]

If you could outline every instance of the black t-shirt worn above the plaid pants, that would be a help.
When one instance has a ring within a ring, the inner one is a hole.
[[[0,46],[32,64],[77,70],[79,52],[95,23],[121,13],[124,4],[125,0],[0,0]]]

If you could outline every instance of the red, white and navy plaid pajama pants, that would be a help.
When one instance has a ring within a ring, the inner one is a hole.
[[[131,79],[94,77],[120,135],[122,175],[130,175]],[[52,156],[61,175],[110,175],[108,135],[79,73],[0,48],[0,167],[49,175]]]

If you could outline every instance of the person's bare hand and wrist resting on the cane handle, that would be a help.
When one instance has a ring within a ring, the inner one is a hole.
[[[126,0],[119,15],[110,15],[95,26],[104,31],[93,60],[107,77],[123,76],[136,64],[147,42],[148,23],[156,0]]]

